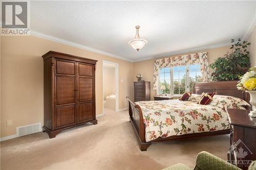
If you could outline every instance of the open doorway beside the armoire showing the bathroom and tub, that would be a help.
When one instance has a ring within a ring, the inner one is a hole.
[[[118,63],[102,61],[102,114],[118,111]]]

